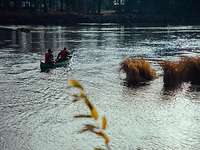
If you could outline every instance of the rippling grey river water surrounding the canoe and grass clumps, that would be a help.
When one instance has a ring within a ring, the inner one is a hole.
[[[27,28],[28,30],[21,30]],[[68,47],[66,68],[41,73],[45,49],[56,55]],[[146,86],[128,88],[119,74],[127,56],[178,59],[199,55],[200,26],[75,27],[9,26],[0,29],[0,149],[83,150],[103,145],[93,134],[77,134],[86,113],[66,94],[68,79],[85,86],[98,111],[108,118],[114,150],[200,149],[200,92],[184,84],[163,90],[162,71]]]

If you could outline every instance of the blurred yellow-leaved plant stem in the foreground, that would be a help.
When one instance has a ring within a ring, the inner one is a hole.
[[[86,114],[86,115],[85,114],[76,115],[76,116],[74,116],[74,118],[91,118],[96,122],[95,125],[85,124],[84,127],[80,130],[80,133],[91,132],[91,133],[94,133],[97,136],[103,138],[104,143],[105,143],[107,149],[109,150],[110,149],[110,147],[109,147],[110,138],[105,132],[106,128],[107,128],[106,116],[103,116],[101,118],[99,117],[98,111],[96,110],[95,106],[89,100],[83,86],[77,80],[69,80],[68,84],[69,84],[69,87],[73,87],[73,88],[76,88],[79,90],[78,94],[70,94],[74,98],[73,102],[83,101],[90,112],[89,114]],[[94,149],[103,150],[102,148],[94,148]]]

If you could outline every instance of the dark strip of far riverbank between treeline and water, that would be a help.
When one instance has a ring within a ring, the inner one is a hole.
[[[163,16],[102,13],[101,15],[83,15],[76,13],[24,13],[0,12],[1,25],[74,25],[77,23],[120,23],[136,25],[196,25],[200,18],[194,16]]]

